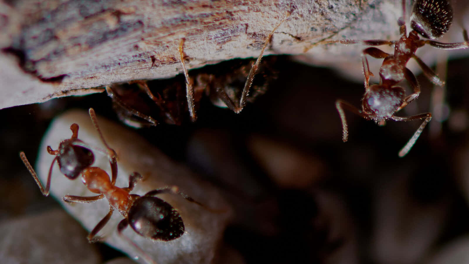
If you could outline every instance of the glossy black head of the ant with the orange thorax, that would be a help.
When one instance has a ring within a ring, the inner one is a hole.
[[[68,179],[76,179],[84,169],[90,167],[94,162],[93,152],[88,148],[75,145],[76,142],[83,141],[73,138],[62,141],[57,153],[60,171]]]

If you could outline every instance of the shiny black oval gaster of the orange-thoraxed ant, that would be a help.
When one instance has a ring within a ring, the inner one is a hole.
[[[137,198],[127,219],[136,233],[154,240],[170,241],[184,233],[184,223],[178,211],[153,196]]]

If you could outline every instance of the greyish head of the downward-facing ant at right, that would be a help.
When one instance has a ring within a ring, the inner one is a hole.
[[[386,119],[401,107],[404,97],[405,90],[401,86],[371,85],[363,95],[362,109],[370,119]]]

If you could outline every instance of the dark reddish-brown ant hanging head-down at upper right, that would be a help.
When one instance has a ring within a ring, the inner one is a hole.
[[[406,1],[402,0],[403,17],[405,16]],[[431,113],[419,114],[416,116],[395,116],[394,113],[403,109],[408,103],[417,99],[420,94],[420,86],[414,74],[406,67],[407,62],[413,58],[422,68],[424,75],[436,85],[444,85],[438,76],[428,67],[419,57],[416,56],[416,50],[428,44],[439,49],[462,49],[469,47],[469,38],[466,30],[463,30],[464,42],[461,43],[441,43],[428,39],[437,39],[443,36],[453,19],[453,9],[447,0],[416,0],[412,14],[410,16],[410,26],[412,31],[407,36],[407,29],[404,18],[397,20],[401,38],[399,40],[335,40],[325,43],[341,44],[363,44],[368,46],[389,45],[394,46],[394,54],[388,54],[376,47],[369,47],[363,50],[362,66],[365,77],[365,93],[362,98],[362,110],[346,101],[337,100],[335,107],[340,115],[342,122],[342,140],[348,140],[348,126],[345,119],[344,109],[362,116],[366,120],[374,120],[378,125],[385,125],[386,120],[409,121],[415,119],[425,119],[407,144],[399,151],[399,156],[405,156],[415,144],[416,140],[425,128],[425,125],[431,120]],[[418,34],[426,39],[420,39]],[[373,58],[384,59],[379,69],[380,83],[369,85],[370,76],[373,76],[368,66],[366,55]],[[407,80],[413,88],[414,93],[406,96],[405,90],[397,86],[403,80]]]

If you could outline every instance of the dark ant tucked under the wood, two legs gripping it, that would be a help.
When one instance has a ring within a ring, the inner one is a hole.
[[[185,78],[185,97],[187,99],[187,110],[189,111],[190,120],[195,122],[197,120],[196,115],[196,108],[198,102],[201,100],[202,93],[205,93],[211,98],[212,102],[215,105],[221,107],[227,107],[231,109],[235,113],[240,113],[244,108],[246,101],[249,101],[248,94],[250,92],[250,88],[253,85],[254,77],[256,76],[259,65],[261,64],[261,60],[263,58],[263,54],[265,49],[267,48],[268,44],[270,43],[270,39],[278,27],[287,20],[287,17],[282,19],[280,23],[278,23],[273,30],[267,35],[265,42],[262,46],[261,52],[257,57],[256,62],[251,63],[251,68],[249,73],[247,74],[247,79],[244,83],[244,87],[241,92],[241,96],[239,100],[233,100],[234,94],[238,88],[231,85],[231,82],[237,80],[239,76],[244,75],[245,78],[245,66],[242,65],[238,69],[235,69],[232,73],[228,73],[225,76],[215,76],[212,74],[207,73],[200,73],[197,74],[195,77],[196,85],[194,85],[194,78],[189,77],[188,70],[185,65],[184,59],[184,52],[183,46],[185,39],[181,39],[178,47],[180,62],[182,64],[182,71]],[[267,78],[266,78],[267,79]],[[182,101],[179,100],[180,96],[176,96],[176,100],[167,100],[167,96],[165,93],[168,93],[168,89],[163,89],[162,93],[163,96],[157,94],[156,96],[151,93],[150,88],[146,81],[132,81],[130,83],[136,83],[140,91],[144,91],[151,100],[156,103],[159,108],[159,112],[163,113],[163,118],[166,123],[168,124],[180,124],[180,118],[177,114],[183,112],[182,108],[185,109],[185,106],[182,105]],[[178,89],[178,91],[182,90],[182,87],[168,84],[170,86],[176,86],[174,89]],[[157,125],[158,121],[155,120],[153,117],[145,114],[145,111],[149,111],[148,106],[142,107],[141,104],[137,104],[135,101],[135,95],[130,95],[132,98],[128,98],[129,92],[126,93],[122,91],[122,87],[116,87],[116,85],[106,86],[107,94],[112,98],[114,109],[117,109],[118,115],[124,120],[124,123],[130,124],[132,126],[141,127],[143,125]],[[257,87],[255,87],[257,88]],[[257,91],[265,90],[265,85],[260,85],[260,89],[256,89]],[[126,93],[126,94],[124,94]],[[132,92],[130,92],[132,93]],[[179,93],[178,93],[179,94]],[[174,96],[172,96],[174,98]],[[138,99],[141,101],[141,99]],[[143,108],[143,109],[142,109]],[[142,110],[140,110],[142,109]],[[143,123],[142,123],[143,122]]]

